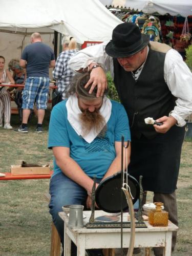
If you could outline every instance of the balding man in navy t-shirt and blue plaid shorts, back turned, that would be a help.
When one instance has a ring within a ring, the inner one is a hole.
[[[49,68],[55,67],[55,56],[53,50],[42,42],[39,33],[33,33],[30,41],[31,45],[26,46],[20,59],[20,66],[27,70],[27,79],[22,95],[22,125],[16,131],[28,133],[28,118],[35,103],[38,116],[36,132],[41,133],[49,95]]]

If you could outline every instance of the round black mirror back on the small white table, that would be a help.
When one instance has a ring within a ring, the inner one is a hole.
[[[131,189],[134,204],[139,198],[139,183],[133,176],[130,175],[127,176],[127,180]],[[121,172],[101,181],[95,191],[95,202],[98,207],[106,212],[115,213],[121,211],[122,205],[122,210],[127,210],[128,205],[126,197],[121,187]]]

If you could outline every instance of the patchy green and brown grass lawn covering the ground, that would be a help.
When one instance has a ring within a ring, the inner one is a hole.
[[[44,133],[35,132],[35,117],[29,123],[29,133],[0,130],[0,172],[9,172],[11,165],[22,160],[53,167],[52,151],[47,149],[47,112]],[[11,124],[19,126],[18,116]],[[174,256],[192,255],[192,141],[183,144],[177,198],[179,214],[178,242]],[[49,180],[0,181],[0,256],[36,255],[50,253],[50,224],[48,203],[44,194],[49,191]],[[152,194],[147,196],[151,200]]]

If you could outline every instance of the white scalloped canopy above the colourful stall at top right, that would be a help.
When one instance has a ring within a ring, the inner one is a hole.
[[[192,15],[191,0],[100,0],[104,6],[126,7],[144,13],[158,12],[161,15],[169,13],[172,16],[187,17]]]

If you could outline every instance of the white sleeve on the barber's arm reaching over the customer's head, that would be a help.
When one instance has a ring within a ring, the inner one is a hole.
[[[113,58],[106,54],[105,46],[108,41],[95,46],[89,46],[77,52],[69,60],[69,66],[74,72],[87,68],[92,62],[96,62],[105,72],[110,71],[113,76]]]

